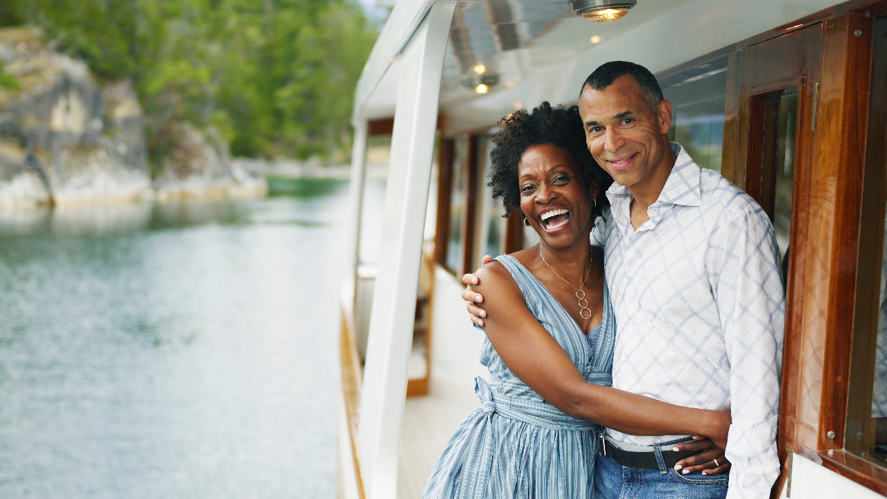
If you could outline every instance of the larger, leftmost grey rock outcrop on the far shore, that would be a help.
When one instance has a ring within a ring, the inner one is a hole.
[[[141,107],[130,83],[100,88],[81,61],[26,29],[4,30],[0,205],[66,205],[150,194]]]

